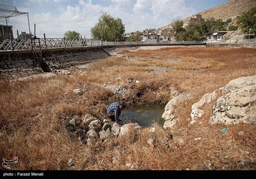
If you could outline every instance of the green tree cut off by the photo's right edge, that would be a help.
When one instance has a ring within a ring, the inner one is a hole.
[[[256,7],[238,16],[237,23],[243,33],[256,33]]]

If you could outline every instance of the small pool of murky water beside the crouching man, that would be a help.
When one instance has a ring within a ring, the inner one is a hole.
[[[164,105],[141,103],[125,107],[120,119],[129,119],[133,123],[138,123],[141,127],[149,127],[154,121],[163,126],[164,120],[161,118],[163,113]]]

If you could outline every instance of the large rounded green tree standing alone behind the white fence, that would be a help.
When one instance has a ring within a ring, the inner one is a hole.
[[[92,37],[96,40],[118,41],[122,39],[125,32],[122,19],[113,18],[106,12],[103,12],[99,18],[99,22],[91,29]]]

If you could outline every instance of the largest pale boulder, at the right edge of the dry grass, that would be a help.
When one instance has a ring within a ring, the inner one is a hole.
[[[256,75],[253,76],[256,79]],[[246,80],[247,77],[244,79]],[[209,123],[224,123],[226,125],[236,123],[255,123],[256,122],[256,84],[248,81],[248,86],[239,78],[234,81],[237,86],[230,82],[223,89],[223,96],[218,98],[212,107],[213,113]],[[256,81],[256,80],[255,80]]]

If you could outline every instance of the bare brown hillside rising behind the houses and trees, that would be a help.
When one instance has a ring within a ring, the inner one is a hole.
[[[238,15],[241,15],[241,13],[246,12],[250,10],[251,8],[256,6],[255,0],[230,0],[227,3],[223,3],[219,6],[216,6],[214,8],[210,8],[209,10],[204,10],[203,12],[198,12],[202,15],[202,19],[209,19],[213,17],[214,19],[229,19],[234,18]],[[193,14],[186,19],[188,20],[191,17],[195,17],[196,14]],[[168,24],[167,26],[161,27],[161,29],[170,28],[172,27],[171,24]]]

